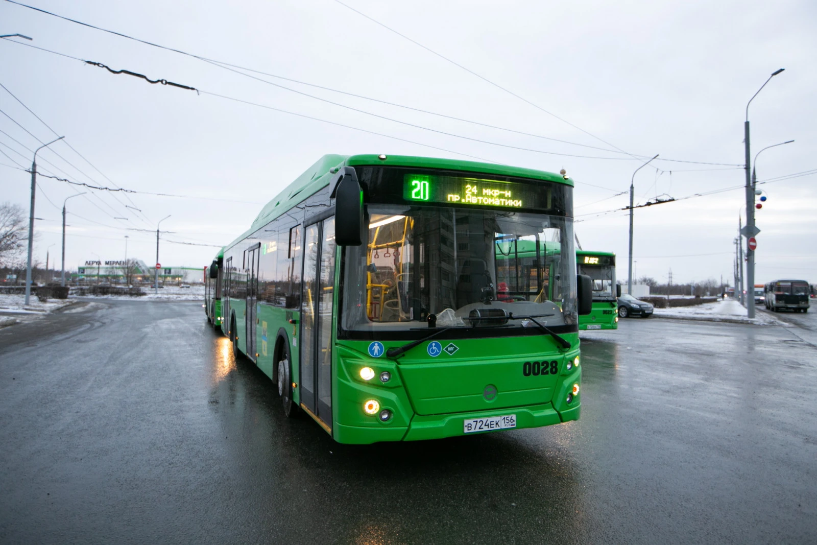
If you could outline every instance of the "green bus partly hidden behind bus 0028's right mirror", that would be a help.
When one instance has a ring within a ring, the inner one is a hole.
[[[615,283],[615,254],[576,250],[576,266],[593,281],[593,311],[579,317],[578,328],[618,329],[621,286]]]

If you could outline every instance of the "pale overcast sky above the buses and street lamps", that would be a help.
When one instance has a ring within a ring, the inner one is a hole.
[[[752,158],[767,145],[795,142],[760,155],[758,180],[817,169],[813,0],[344,0],[349,7],[335,0],[30,1],[61,16],[197,56],[579,144],[480,127],[254,74],[396,120],[391,121],[2,0],[0,34],[25,34],[33,42],[14,39],[203,92],[151,85],[0,40],[0,83],[59,136],[65,135],[65,143],[39,152],[38,172],[186,196],[114,195],[40,177],[35,215],[43,219],[36,223],[40,235],[35,257],[43,263],[48,248],[58,259],[62,203],[77,191],[87,194],[68,201],[66,266],[75,268],[96,256],[123,259],[126,235],[127,256],[150,264],[155,235],[128,228],[155,230],[156,222],[171,214],[162,229],[172,234],[163,237],[228,243],[247,229],[264,203],[321,155],[385,153],[471,156],[552,172],[565,168],[576,182],[578,239],[586,250],[616,252],[618,278],[626,279],[627,212],[597,212],[627,206],[629,197],[623,192],[643,163],[628,154],[660,154],[636,174],[636,203],[742,185],[746,103],[779,68],[786,70],[749,109]],[[0,109],[7,114],[0,114],[0,201],[19,203],[27,213],[30,175],[20,167],[30,168],[29,150],[40,145],[38,140],[56,136],[2,88]],[[812,173],[761,186],[768,200],[757,212],[762,231],[757,236],[758,283],[779,277],[817,281],[815,184],[817,175]],[[731,284],[739,214],[745,214],[741,189],[636,209],[636,275],[666,282],[672,269],[676,283],[723,275]],[[216,251],[163,242],[159,261],[165,266],[204,266]]]

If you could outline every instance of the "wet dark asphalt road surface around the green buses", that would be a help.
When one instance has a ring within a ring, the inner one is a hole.
[[[348,446],[199,303],[74,307],[0,329],[0,543],[817,543],[817,315],[784,319],[624,319],[578,422]]]

